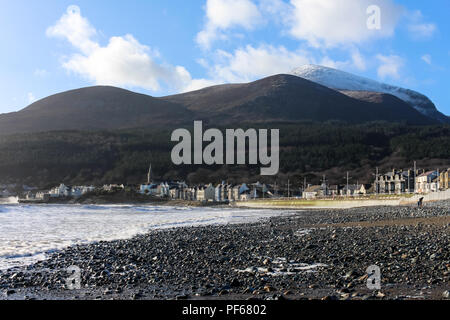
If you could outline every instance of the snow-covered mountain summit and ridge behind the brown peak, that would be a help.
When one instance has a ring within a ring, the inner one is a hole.
[[[427,117],[436,119],[442,123],[450,123],[450,118],[439,112],[428,97],[413,90],[388,85],[344,71],[317,65],[304,65],[294,69],[291,74],[331,89],[344,91],[343,93],[349,95],[351,95],[351,92],[345,91],[370,91],[391,94],[405,101]]]

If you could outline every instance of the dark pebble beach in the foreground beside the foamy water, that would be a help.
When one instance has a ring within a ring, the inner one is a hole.
[[[306,210],[74,246],[0,272],[0,299],[445,299],[449,208]],[[72,265],[80,290],[65,289]],[[366,287],[371,265],[381,290]]]

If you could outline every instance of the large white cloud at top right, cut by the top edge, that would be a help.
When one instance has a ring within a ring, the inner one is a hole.
[[[373,38],[390,37],[403,9],[392,0],[291,0],[294,7],[289,19],[292,36],[306,40],[313,47],[357,44]],[[367,8],[381,9],[381,29],[367,27]]]

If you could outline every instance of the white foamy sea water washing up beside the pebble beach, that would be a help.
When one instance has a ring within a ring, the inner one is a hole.
[[[255,222],[293,212],[130,205],[0,204],[0,269],[75,244],[128,239],[155,229]]]

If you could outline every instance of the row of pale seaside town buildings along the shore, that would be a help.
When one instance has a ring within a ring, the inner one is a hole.
[[[378,172],[378,169],[377,169]],[[341,199],[351,197],[368,197],[374,195],[408,195],[430,194],[449,189],[450,168],[447,170],[395,170],[376,174],[372,183],[350,183],[347,173],[347,183],[342,185],[328,184],[324,176],[322,184],[311,185],[306,181],[297,190],[287,185],[265,184],[260,182],[229,184],[225,181],[219,184],[189,185],[185,181],[156,182],[152,179],[152,168],[147,173],[147,181],[138,186],[125,184],[109,184],[96,186],[67,186],[60,184],[50,190],[35,190],[24,186],[19,202],[47,203],[54,200],[77,199],[82,196],[103,192],[129,190],[130,192],[148,196],[152,199],[184,200],[201,203],[231,203],[257,199]],[[0,185],[0,197],[18,196],[9,190],[7,185]]]

